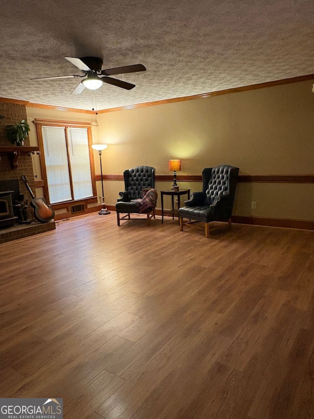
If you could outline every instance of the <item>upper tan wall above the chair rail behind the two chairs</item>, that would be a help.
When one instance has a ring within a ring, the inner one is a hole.
[[[312,82],[98,115],[99,140],[108,151],[107,173],[142,163],[180,174],[229,163],[242,174],[313,173]],[[119,156],[119,159],[112,158]]]

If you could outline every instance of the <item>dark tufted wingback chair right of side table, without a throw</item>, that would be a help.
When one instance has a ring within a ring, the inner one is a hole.
[[[205,168],[202,172],[203,191],[193,193],[188,201],[184,201],[185,206],[179,208],[180,230],[183,231],[183,224],[203,222],[205,237],[209,237],[210,222],[228,221],[231,225],[238,173],[239,168],[229,165]],[[183,219],[189,222],[183,223]]]

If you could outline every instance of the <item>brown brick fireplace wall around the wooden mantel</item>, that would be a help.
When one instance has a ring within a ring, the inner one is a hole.
[[[21,122],[23,119],[27,120],[26,107],[25,105],[10,102],[0,102],[0,115],[4,116],[4,118],[0,118],[0,146],[12,146],[6,137],[5,126],[16,124],[17,122]],[[31,130],[35,129],[33,124],[29,125]],[[28,138],[25,141],[25,145],[29,146]],[[31,156],[24,153],[20,154],[18,158],[18,168],[16,169],[11,168],[8,154],[0,152],[0,158],[0,180],[19,179],[20,191],[25,195],[25,199],[29,199],[30,195],[21,179],[21,176],[27,176],[28,184],[35,194],[35,180]]]

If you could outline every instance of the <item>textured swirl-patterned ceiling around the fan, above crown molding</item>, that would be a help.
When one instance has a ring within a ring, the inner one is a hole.
[[[313,0],[10,0],[1,2],[0,97],[91,110],[71,95],[82,74],[64,56],[99,56],[112,76],[97,109],[207,93],[314,73]]]

